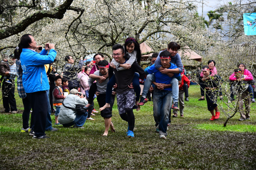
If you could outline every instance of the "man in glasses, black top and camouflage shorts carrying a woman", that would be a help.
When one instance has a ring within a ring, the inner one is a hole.
[[[127,61],[127,59],[124,58],[124,48],[121,44],[114,45],[112,50],[112,56],[116,62],[124,64]],[[128,122],[128,132],[126,132],[127,137],[134,137],[133,130],[135,117],[133,114],[133,107],[135,104],[135,93],[134,90],[130,88],[130,85],[132,83],[135,72],[139,73],[139,81],[143,83],[145,72],[136,62],[132,64],[130,69],[120,71],[117,71],[116,69],[113,70],[115,73],[115,82],[117,86],[116,99],[119,115],[124,121]],[[109,71],[110,75],[111,73],[113,74],[113,72]]]

